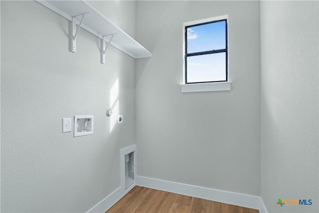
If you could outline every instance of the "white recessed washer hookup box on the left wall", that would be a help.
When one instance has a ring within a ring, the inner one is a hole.
[[[74,116],[74,137],[93,134],[93,115]]]

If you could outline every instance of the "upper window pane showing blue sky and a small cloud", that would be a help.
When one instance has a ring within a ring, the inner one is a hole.
[[[187,53],[226,48],[226,21],[187,27]]]

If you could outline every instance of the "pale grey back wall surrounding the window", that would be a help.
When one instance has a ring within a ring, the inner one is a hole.
[[[137,174],[260,194],[259,1],[138,1]],[[183,22],[228,14],[232,90],[180,93]]]

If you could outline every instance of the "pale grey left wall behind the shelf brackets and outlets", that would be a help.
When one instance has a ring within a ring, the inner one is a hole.
[[[89,3],[134,37],[134,1]],[[135,59],[110,46],[101,64],[100,40],[83,29],[69,52],[68,25],[35,1],[1,0],[2,212],[86,212],[120,186],[119,150],[135,143]],[[124,123],[110,132],[117,79]],[[61,132],[62,118],[91,114],[93,135]]]

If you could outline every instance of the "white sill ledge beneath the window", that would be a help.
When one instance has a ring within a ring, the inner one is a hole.
[[[180,91],[183,92],[211,92],[211,91],[229,91],[231,81],[181,84]]]

